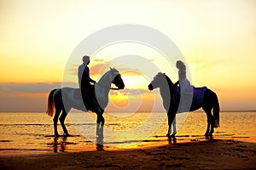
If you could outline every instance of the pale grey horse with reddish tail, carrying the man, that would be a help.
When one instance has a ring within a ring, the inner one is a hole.
[[[65,118],[68,112],[74,108],[80,111],[93,111],[97,115],[96,119],[96,135],[102,135],[104,126],[103,112],[108,105],[108,94],[113,83],[118,89],[124,89],[125,84],[116,69],[110,68],[95,84],[95,94],[91,97],[90,107],[86,108],[81,96],[79,88],[58,88],[53,89],[49,93],[48,109],[46,113],[49,116],[53,116],[55,109],[55,116],[53,119],[55,137],[58,137],[57,122],[60,116],[61,127],[64,132],[64,136],[68,136],[67,128],[64,124]],[[115,89],[115,88],[114,88]],[[61,113],[62,111],[62,113]]]

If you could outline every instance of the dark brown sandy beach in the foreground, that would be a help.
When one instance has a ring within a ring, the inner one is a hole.
[[[256,144],[234,139],[76,152],[2,150],[0,169],[256,169]]]

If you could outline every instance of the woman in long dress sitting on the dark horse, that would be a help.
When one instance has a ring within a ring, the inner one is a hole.
[[[180,95],[183,98],[183,102],[180,103],[181,112],[189,111],[191,101],[193,98],[193,86],[190,85],[189,80],[186,77],[186,65],[183,61],[178,60],[176,63],[178,69],[178,81],[175,85],[180,86]]]

